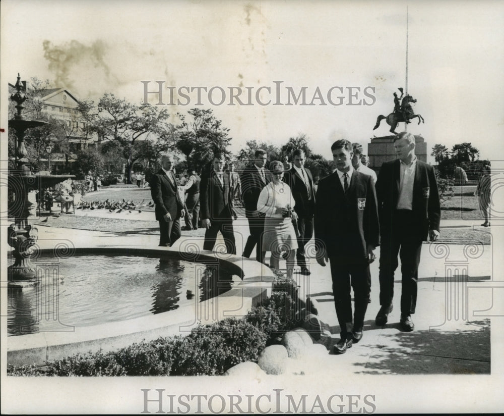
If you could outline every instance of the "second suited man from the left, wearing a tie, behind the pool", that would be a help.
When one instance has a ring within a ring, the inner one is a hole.
[[[212,169],[200,184],[201,218],[205,231],[204,250],[213,250],[220,231],[229,254],[236,254],[233,232],[232,199],[229,175],[224,172],[226,160],[216,153]]]

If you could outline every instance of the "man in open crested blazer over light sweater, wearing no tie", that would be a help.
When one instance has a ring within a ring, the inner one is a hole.
[[[415,156],[415,137],[399,133],[394,139],[399,159],[382,165],[376,182],[382,246],[380,249],[380,311],[376,325],[383,326],[392,311],[394,272],[401,258],[401,320],[404,331],[414,329],[418,265],[422,241],[439,236],[440,206],[432,166]]]

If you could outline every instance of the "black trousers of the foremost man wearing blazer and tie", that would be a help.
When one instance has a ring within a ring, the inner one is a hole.
[[[369,300],[370,282],[368,263],[365,259],[353,260],[342,256],[330,256],[331,277],[333,280],[334,306],[340,325],[342,339],[350,339],[353,331],[362,331],[364,316]],[[354,294],[354,314],[352,318],[352,297]]]

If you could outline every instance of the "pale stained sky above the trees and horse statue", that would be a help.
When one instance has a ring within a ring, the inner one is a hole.
[[[365,149],[373,136],[391,134],[385,121],[373,127],[377,116],[392,112],[393,92],[406,88],[407,7],[407,91],[425,120],[408,131],[424,137],[428,152],[436,143],[469,141],[482,159],[492,159],[504,137],[502,2],[7,0],[2,86],[20,72],[78,98],[97,102],[112,92],[142,102],[141,81],[149,81],[149,91],[164,81],[162,107],[173,121],[176,112],[213,109],[230,128],[234,152],[246,140],[281,145],[304,133],[314,152],[330,158],[336,139]],[[200,89],[202,106],[197,90],[188,105],[176,94],[181,105],[167,105],[169,86],[215,88],[210,97]],[[244,103],[251,91],[251,105],[230,106],[229,87],[241,87]],[[287,87],[296,95],[306,87],[305,103],[314,105],[285,105]],[[328,91],[341,105],[331,105]],[[153,104],[158,98],[148,94]]]

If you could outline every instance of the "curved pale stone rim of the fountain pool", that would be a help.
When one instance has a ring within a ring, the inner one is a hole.
[[[53,249],[39,250],[39,257],[54,255]],[[186,253],[165,247],[142,248],[138,246],[105,245],[102,247],[74,248],[72,255],[145,256],[218,265],[226,272],[238,276],[230,290],[203,301],[181,305],[156,315],[142,316],[118,322],[90,326],[67,327],[35,334],[10,336],[7,339],[8,363],[21,366],[42,365],[46,360],[62,358],[74,353],[110,351],[142,340],[150,341],[160,336],[186,335],[201,324],[216,322],[228,317],[244,316],[251,307],[271,295],[274,275],[256,261],[239,256],[211,251]],[[68,256],[68,253],[65,255]],[[36,264],[36,261],[34,262]],[[25,289],[23,289],[25,290]],[[128,305],[125,305],[128,307]],[[53,319],[57,319],[57,316]]]

